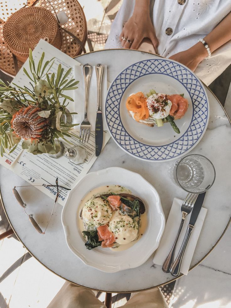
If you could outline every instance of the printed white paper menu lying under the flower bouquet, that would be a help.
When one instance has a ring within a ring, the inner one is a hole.
[[[57,72],[59,63],[62,64],[64,72],[67,71],[69,68],[80,65],[80,63],[78,63],[71,57],[64,54],[62,51],[56,49],[54,46],[43,40],[40,40],[40,42],[32,52],[33,58],[35,60],[35,65],[39,61],[41,53],[43,51],[45,52],[44,63],[47,60],[50,60],[51,58],[55,57],[55,62],[50,70],[50,73]],[[30,71],[29,60],[24,63],[23,67],[25,67],[28,72]],[[70,74],[69,78],[73,78],[73,73],[72,76]],[[29,82],[30,79],[23,72],[23,68],[20,69],[19,73],[13,79],[13,83],[18,84],[21,87],[26,85],[30,88]],[[65,91],[65,94],[73,98],[73,92],[73,90]],[[82,103],[84,104],[84,101]],[[73,112],[74,109],[74,102],[70,102],[68,105],[68,110],[70,112]],[[79,132],[77,131],[72,132],[75,133],[76,136],[79,135]],[[104,132],[103,147],[105,146],[109,138],[109,132]],[[12,170],[14,173],[22,177],[31,185],[43,185],[36,187],[40,191],[44,192],[47,196],[51,197],[52,199],[55,199],[57,193],[56,188],[47,187],[46,185],[55,185],[56,177],[58,177],[59,185],[67,188],[73,188],[75,184],[88,173],[89,169],[97,158],[95,156],[94,132],[91,132],[89,142],[85,144],[80,143],[79,139],[76,137],[67,139],[69,139],[74,145],[70,145],[64,140],[60,139],[62,140],[65,148],[80,145],[81,147],[84,147],[86,149],[88,157],[83,164],[74,165],[65,156],[54,159],[51,158],[48,154],[33,155],[25,150],[22,150],[20,144],[15,150],[15,152],[9,155],[5,154],[3,158],[0,158],[0,164]],[[64,189],[60,188],[58,203],[64,205],[69,192],[70,191],[65,191]]]

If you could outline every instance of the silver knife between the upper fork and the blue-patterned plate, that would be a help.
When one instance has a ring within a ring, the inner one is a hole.
[[[97,114],[95,122],[95,155],[99,156],[102,145],[103,145],[103,116],[101,110],[101,90],[102,90],[102,78],[104,73],[104,66],[102,64],[96,64],[95,66],[96,77],[97,77]]]

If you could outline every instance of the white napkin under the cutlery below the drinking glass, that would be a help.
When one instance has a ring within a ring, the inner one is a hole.
[[[155,256],[153,258],[153,263],[161,265],[164,263],[164,260],[166,259],[169,250],[172,247],[172,244],[175,240],[178,228],[180,226],[182,214],[180,211],[182,200],[178,198],[174,198],[172,207],[169,212],[169,217],[165,225],[164,234],[161,238],[160,245],[158,247],[158,250],[155,253]],[[189,267],[192,261],[192,256],[196,248],[196,243],[199,238],[201,228],[203,226],[205,216],[207,214],[207,208],[201,208],[201,211],[197,217],[195,226],[192,230],[192,233],[190,235],[188,244],[185,249],[184,257],[181,264],[180,272],[187,275],[189,271]],[[185,237],[185,233],[189,224],[189,220],[191,217],[191,213],[188,214],[185,218],[185,222],[183,225],[183,228],[180,233],[180,237],[176,246],[174,260],[180,250],[180,246],[183,242],[183,239]]]

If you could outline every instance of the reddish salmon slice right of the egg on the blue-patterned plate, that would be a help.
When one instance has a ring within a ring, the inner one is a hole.
[[[182,118],[188,109],[188,100],[179,94],[168,95],[168,99],[172,102],[170,116],[173,116],[175,120]]]

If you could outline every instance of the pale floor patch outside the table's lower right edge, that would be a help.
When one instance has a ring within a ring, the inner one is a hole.
[[[169,308],[231,307],[231,226],[209,256],[175,284]]]

